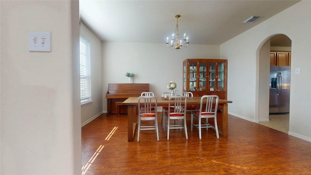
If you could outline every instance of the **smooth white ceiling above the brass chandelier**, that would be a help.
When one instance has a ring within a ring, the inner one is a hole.
[[[190,44],[219,45],[299,0],[80,0],[80,18],[102,41],[165,43],[175,32]],[[242,23],[260,16],[253,23]],[[276,41],[277,42],[277,41]]]

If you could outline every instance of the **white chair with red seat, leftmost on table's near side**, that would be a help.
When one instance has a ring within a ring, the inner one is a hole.
[[[157,107],[157,100],[155,96],[140,96],[138,97],[138,108],[143,109],[138,114],[138,135],[137,141],[139,141],[140,130],[154,130],[156,132],[156,139],[159,141],[159,131],[157,125],[157,112],[152,110],[152,106]],[[154,125],[151,123],[144,123],[142,121],[154,121]]]

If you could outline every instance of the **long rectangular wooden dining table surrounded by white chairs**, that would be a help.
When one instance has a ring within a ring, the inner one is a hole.
[[[167,106],[169,101],[164,99],[163,97],[157,97],[157,106]],[[201,97],[187,97],[187,105],[197,105],[200,106]],[[219,133],[223,137],[228,137],[228,104],[232,103],[232,101],[219,99],[218,106],[220,106],[220,110],[222,110],[222,127],[219,129]],[[135,133],[137,130],[137,119],[138,119],[138,97],[129,97],[122,105],[127,105],[127,133],[128,133],[128,141],[133,141],[135,137]]]

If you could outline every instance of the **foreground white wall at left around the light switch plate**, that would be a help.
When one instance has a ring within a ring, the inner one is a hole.
[[[0,4],[0,174],[81,175],[79,2]],[[28,31],[52,52],[29,52]]]

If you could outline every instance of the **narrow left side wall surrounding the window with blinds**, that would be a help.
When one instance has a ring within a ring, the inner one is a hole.
[[[86,38],[91,47],[91,95],[92,103],[81,106],[82,125],[103,113],[102,88],[102,41],[81,22],[80,35]]]

